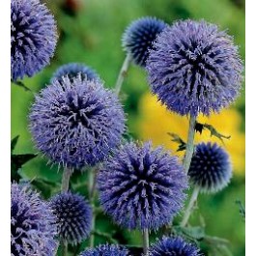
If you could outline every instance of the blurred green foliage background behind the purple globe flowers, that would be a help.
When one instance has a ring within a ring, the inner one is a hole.
[[[51,64],[36,76],[22,81],[34,93],[45,87],[53,71],[69,62],[85,63],[100,73],[106,87],[113,87],[125,59],[125,52],[121,46],[122,34],[133,19],[143,15],[155,15],[168,23],[183,18],[204,18],[216,23],[221,29],[228,29],[228,33],[234,35],[244,60],[243,0],[55,0],[45,3],[56,17],[59,42]],[[123,86],[121,98],[128,113],[128,130],[133,137],[138,138],[135,122],[139,118],[137,103],[141,95],[149,90],[146,72],[131,66]],[[16,155],[38,153],[33,146],[27,122],[34,93],[12,85],[12,138],[19,135],[14,149]],[[236,102],[236,107],[241,111],[243,118],[244,105],[243,90],[240,100]],[[36,186],[42,188],[43,196],[46,198],[59,190],[62,170],[58,170],[55,165],[47,164],[47,159],[42,155],[24,164],[21,173],[28,179],[37,178]],[[77,172],[71,178],[71,189],[87,195],[86,180],[86,173]],[[236,204],[238,199],[244,203],[242,177],[234,178],[231,185],[214,196],[201,195],[199,210],[192,215],[191,223],[199,225],[204,219],[207,234],[229,240],[233,254],[242,256],[245,254],[245,235],[244,221]],[[97,218],[97,229],[97,243],[117,241],[132,245],[141,244],[138,232],[120,229],[102,213]],[[109,233],[112,233],[114,241],[109,241]],[[155,240],[154,234],[152,240]],[[77,250],[86,244],[87,242],[84,242]],[[208,248],[206,243],[203,246]]]

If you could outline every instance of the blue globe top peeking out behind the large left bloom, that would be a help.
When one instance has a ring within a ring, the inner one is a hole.
[[[53,83],[54,79],[59,82],[62,81],[63,76],[69,76],[72,79],[80,73],[81,78],[87,78],[87,80],[100,79],[96,71],[92,70],[90,67],[83,65],[81,63],[69,63],[61,66],[57,71],[54,72],[50,83]]]

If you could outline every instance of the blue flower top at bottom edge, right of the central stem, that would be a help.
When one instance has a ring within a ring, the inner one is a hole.
[[[149,249],[150,256],[203,256],[196,245],[181,237],[163,237]]]

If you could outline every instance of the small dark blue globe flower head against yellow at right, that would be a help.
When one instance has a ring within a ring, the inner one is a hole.
[[[188,176],[200,191],[213,193],[229,184],[232,167],[227,152],[216,143],[200,143],[191,159]]]

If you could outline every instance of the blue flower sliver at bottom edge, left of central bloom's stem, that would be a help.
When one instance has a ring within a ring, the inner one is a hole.
[[[128,256],[128,249],[116,244],[100,244],[96,248],[88,248],[80,256]]]

